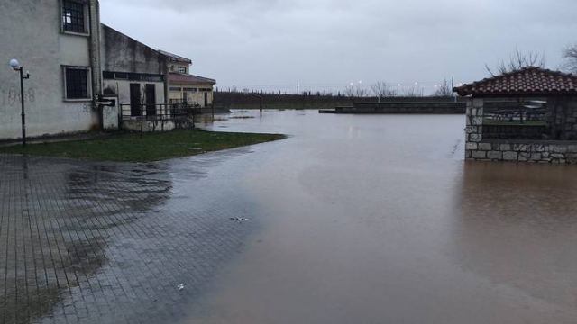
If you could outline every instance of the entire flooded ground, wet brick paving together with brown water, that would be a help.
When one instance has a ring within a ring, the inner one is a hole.
[[[463,119],[235,112],[205,127],[290,137],[0,155],[0,324],[577,322],[577,167],[464,163]]]

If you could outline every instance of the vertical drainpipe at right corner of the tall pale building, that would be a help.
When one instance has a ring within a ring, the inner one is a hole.
[[[92,102],[97,110],[98,129],[104,129],[102,97],[102,64],[100,57],[100,4],[90,0],[90,68],[92,70]]]

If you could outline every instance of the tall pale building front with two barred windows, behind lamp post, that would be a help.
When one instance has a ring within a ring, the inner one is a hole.
[[[0,139],[21,130],[20,78],[8,66],[17,58],[24,82],[27,133],[55,135],[101,127],[99,8],[96,0],[0,2]]]

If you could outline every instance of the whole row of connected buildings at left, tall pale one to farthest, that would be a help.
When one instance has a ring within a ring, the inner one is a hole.
[[[188,58],[101,24],[98,0],[1,1],[0,44],[0,140],[22,136],[13,58],[31,75],[23,95],[29,137],[118,129],[131,117],[164,120],[170,99],[213,101],[215,80],[189,75]]]

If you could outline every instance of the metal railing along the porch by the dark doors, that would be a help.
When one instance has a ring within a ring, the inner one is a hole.
[[[200,106],[190,103],[170,103],[170,104],[121,104],[121,121],[140,121],[141,132],[143,124],[147,121],[163,123],[164,121],[190,121],[194,127],[195,115],[200,114]]]

